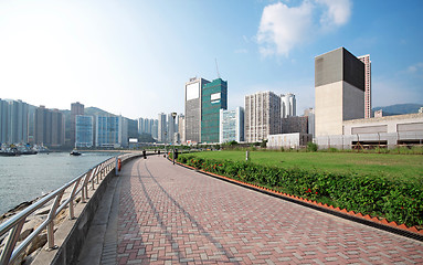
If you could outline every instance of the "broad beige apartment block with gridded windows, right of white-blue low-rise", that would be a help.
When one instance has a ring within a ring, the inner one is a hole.
[[[273,92],[245,96],[245,140],[262,141],[281,132],[281,97]]]

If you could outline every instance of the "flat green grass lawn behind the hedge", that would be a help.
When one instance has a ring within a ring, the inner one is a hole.
[[[219,160],[245,160],[245,151],[204,151],[193,155]],[[423,183],[422,155],[250,151],[250,159],[254,163],[283,168],[378,174]]]

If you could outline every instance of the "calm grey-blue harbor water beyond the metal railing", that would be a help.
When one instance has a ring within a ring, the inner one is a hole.
[[[0,157],[0,215],[18,204],[53,191],[97,163],[114,157],[110,152],[50,152]]]

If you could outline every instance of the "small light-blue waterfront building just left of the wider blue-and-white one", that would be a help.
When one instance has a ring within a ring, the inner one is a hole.
[[[94,118],[92,116],[76,115],[75,117],[75,147],[94,146]]]

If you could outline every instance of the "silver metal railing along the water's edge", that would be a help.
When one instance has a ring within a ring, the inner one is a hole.
[[[99,184],[101,180],[105,178],[112,170],[116,168],[117,158],[121,161],[136,156],[133,153],[126,153],[117,157],[106,159],[105,161],[98,163],[94,168],[89,169],[80,177],[71,180],[66,184],[62,186],[57,190],[54,190],[50,194],[36,201],[34,204],[25,208],[21,212],[17,213],[11,219],[0,224],[0,236],[8,234],[4,239],[4,247],[0,255],[0,265],[6,265],[13,263],[14,259],[29,246],[29,244],[38,236],[43,230],[47,231],[47,245],[50,250],[54,250],[57,246],[54,244],[54,219],[56,215],[66,206],[68,206],[68,219],[75,219],[74,208],[75,200],[81,193],[81,202],[84,203],[88,199],[88,188],[95,190],[95,184]],[[62,201],[62,197],[65,194],[65,191],[70,190],[68,197],[66,200]],[[23,224],[27,221],[27,218],[34,213],[36,210],[42,206],[51,204],[49,216],[43,221],[34,231],[27,236],[18,245],[18,239],[21,234]]]

